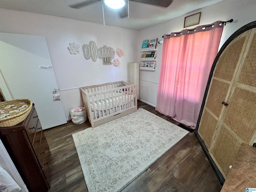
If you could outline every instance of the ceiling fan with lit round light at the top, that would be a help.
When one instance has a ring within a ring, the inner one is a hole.
[[[126,2],[128,3],[129,0],[85,0],[76,4],[71,4],[69,5],[69,7],[71,8],[75,8],[75,9],[79,9],[82,8],[84,6],[88,6],[90,4],[96,3],[96,2],[104,2],[108,7],[112,8],[112,9],[119,9],[119,17],[120,18],[125,18],[128,16],[128,8],[126,8],[124,5],[126,4]],[[170,4],[172,3],[173,0],[130,0],[133,2],[138,2],[138,3],[144,3],[144,4],[150,4],[150,5],[154,5],[154,6],[160,6],[160,7],[168,7],[170,6]],[[108,2],[114,2],[114,6],[116,6],[119,2],[122,4],[122,6],[120,5],[120,7],[118,8],[114,8],[111,5],[108,4]]]

